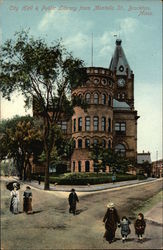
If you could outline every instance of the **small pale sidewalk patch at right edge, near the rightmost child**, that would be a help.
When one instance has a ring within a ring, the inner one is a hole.
[[[159,202],[145,213],[145,219],[151,223],[163,226],[163,203]]]

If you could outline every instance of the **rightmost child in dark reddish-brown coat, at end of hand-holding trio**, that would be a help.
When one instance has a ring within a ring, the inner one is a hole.
[[[138,218],[135,221],[135,234],[138,236],[138,240],[142,242],[143,234],[145,232],[146,222],[144,220],[144,215],[142,213],[138,214]]]

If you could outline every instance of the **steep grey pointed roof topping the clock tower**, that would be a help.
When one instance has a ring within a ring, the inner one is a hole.
[[[116,40],[116,47],[114,50],[114,54],[112,56],[109,69],[111,71],[114,71],[116,69],[116,75],[124,76],[127,75],[128,70],[128,76],[131,77],[131,68],[128,64],[127,58],[125,56],[125,53],[123,51],[123,48],[121,46],[122,40],[117,39]]]

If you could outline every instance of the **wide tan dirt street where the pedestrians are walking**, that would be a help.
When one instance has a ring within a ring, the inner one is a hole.
[[[1,249],[162,249],[160,225],[147,221],[142,244],[137,241],[133,227],[133,209],[161,190],[161,180],[119,190],[78,193],[76,216],[68,212],[68,193],[35,188],[32,188],[34,214],[22,213],[24,184],[20,189],[21,213],[11,214],[10,192],[5,187],[7,180],[1,180]],[[126,215],[132,222],[131,234],[126,243],[121,241],[120,229],[116,231],[114,243],[108,244],[103,238],[102,219],[109,201],[115,203],[120,217]]]

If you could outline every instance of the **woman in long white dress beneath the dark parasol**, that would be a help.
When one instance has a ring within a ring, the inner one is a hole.
[[[11,202],[10,202],[10,211],[13,214],[19,213],[19,191],[17,190],[17,184],[13,184],[14,190],[11,191]]]

